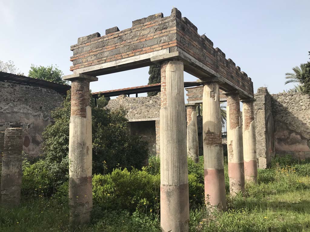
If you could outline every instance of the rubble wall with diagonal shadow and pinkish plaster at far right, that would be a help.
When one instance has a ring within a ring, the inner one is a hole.
[[[310,97],[303,93],[271,96],[276,153],[310,158]]]

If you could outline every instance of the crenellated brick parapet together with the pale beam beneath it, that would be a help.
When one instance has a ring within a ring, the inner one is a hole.
[[[114,69],[122,71],[181,58],[189,62],[184,70],[201,80],[216,77],[222,81],[221,89],[237,88],[253,97],[253,83],[247,74],[232,59],[226,59],[221,49],[214,48],[209,38],[199,35],[197,27],[176,8],[170,16],[150,15],[134,20],[131,28],[119,31],[113,27],[106,33],[78,38],[78,43],[71,46],[71,71],[102,75]]]

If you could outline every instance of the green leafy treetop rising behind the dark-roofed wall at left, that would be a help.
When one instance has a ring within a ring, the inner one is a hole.
[[[60,84],[68,84],[68,81],[61,79],[61,76],[63,75],[64,75],[63,72],[60,69],[58,69],[57,66],[53,67],[53,65],[51,65],[44,67],[44,66],[34,66],[33,64],[31,65],[28,74],[28,76],[32,78],[52,81]]]

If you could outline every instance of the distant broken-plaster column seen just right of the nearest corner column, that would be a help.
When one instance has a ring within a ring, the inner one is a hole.
[[[198,128],[197,128],[197,113],[196,105],[189,103],[185,104],[187,117],[187,156],[191,157],[195,163],[199,162],[198,148]]]

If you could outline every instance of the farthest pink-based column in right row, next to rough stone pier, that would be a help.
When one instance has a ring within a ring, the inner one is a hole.
[[[243,100],[242,102],[244,175],[246,181],[256,183],[257,157],[254,121],[254,99]]]

